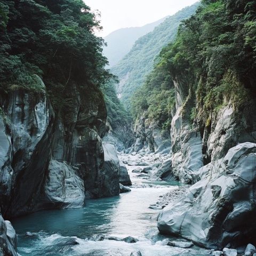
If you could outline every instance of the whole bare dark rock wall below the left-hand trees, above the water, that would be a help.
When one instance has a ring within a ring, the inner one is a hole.
[[[107,117],[103,96],[93,85],[86,95],[75,83],[69,86],[73,104],[62,115],[54,113],[44,93],[0,95],[5,113],[0,116],[0,207],[5,218],[78,207],[85,197],[119,193],[118,158],[110,152],[115,149],[106,149],[104,159],[101,141]]]

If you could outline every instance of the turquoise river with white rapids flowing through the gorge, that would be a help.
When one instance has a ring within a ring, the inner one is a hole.
[[[180,185],[177,181],[138,177],[143,175],[132,170],[145,166],[132,164],[139,160],[148,165],[161,157],[167,158],[155,154],[140,155],[140,158],[119,155],[121,161],[129,164],[126,166],[133,183],[129,193],[87,200],[82,209],[41,211],[15,219],[13,226],[18,234],[20,255],[130,256],[138,251],[142,256],[209,255],[209,251],[196,246],[189,249],[168,246],[169,239],[174,238],[158,233],[156,218],[160,210],[149,206],[154,205],[159,196]],[[122,241],[123,238],[127,238],[126,242]]]

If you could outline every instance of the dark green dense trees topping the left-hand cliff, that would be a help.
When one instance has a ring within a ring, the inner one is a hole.
[[[82,97],[104,84],[111,75],[94,29],[99,23],[82,0],[1,1],[0,89],[40,92],[38,75],[59,109],[73,85]]]

